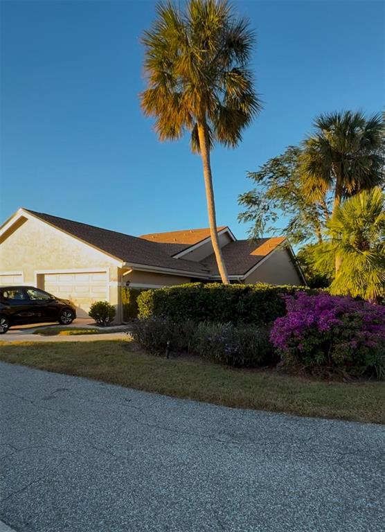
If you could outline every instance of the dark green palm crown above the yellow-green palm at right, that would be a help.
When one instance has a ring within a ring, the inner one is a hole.
[[[333,211],[341,200],[370,190],[384,180],[384,121],[381,114],[361,112],[321,114],[316,132],[303,142],[301,168],[314,197],[332,190]]]

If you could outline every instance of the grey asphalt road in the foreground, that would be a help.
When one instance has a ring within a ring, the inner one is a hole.
[[[379,425],[0,376],[0,520],[17,532],[384,530]]]

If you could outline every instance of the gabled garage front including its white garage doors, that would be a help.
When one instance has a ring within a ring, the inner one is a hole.
[[[123,261],[86,242],[88,233],[81,235],[83,238],[73,234],[77,233],[76,227],[80,231],[84,228],[91,231],[91,227],[86,224],[57,227],[60,220],[55,218],[47,222],[20,209],[3,224],[0,228],[0,285],[35,286],[61,299],[69,299],[78,317],[83,318],[89,317],[92,303],[107,301],[116,308],[119,322]]]

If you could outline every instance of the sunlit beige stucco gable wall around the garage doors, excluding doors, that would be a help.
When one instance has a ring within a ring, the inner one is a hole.
[[[30,218],[8,231],[0,242],[0,272],[24,272],[24,284],[37,285],[36,272],[107,269],[109,302],[120,321],[120,274],[118,263],[48,224]]]

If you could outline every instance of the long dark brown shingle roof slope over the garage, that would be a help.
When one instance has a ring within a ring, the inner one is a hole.
[[[66,218],[58,218],[50,214],[24,210],[123,262],[158,266],[201,275],[208,273],[202,264],[195,263],[193,260],[172,258],[170,252],[156,242],[148,242],[143,238],[66,220]],[[174,252],[177,253],[177,251]]]

